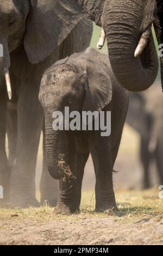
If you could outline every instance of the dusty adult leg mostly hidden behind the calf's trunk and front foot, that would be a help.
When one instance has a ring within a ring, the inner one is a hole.
[[[43,123],[43,167],[40,181],[41,204],[45,201],[51,206],[56,206],[58,202],[59,184],[58,180],[49,174],[45,159],[45,124]]]

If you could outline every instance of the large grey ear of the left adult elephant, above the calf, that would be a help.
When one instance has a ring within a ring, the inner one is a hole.
[[[30,63],[48,57],[74,26],[82,20],[82,8],[74,1],[30,0],[31,11],[24,36],[24,48]]]

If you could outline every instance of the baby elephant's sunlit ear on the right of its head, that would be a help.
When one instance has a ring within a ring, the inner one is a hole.
[[[89,48],[86,52],[86,82],[83,111],[102,111],[112,99],[108,56]]]

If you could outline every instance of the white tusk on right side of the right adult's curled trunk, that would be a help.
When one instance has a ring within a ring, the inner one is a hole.
[[[146,29],[146,31],[141,35],[141,38],[139,40],[139,44],[137,45],[135,53],[134,53],[135,58],[140,56],[141,53],[143,52],[143,50],[145,49],[150,35],[151,35],[151,26],[149,26]]]

